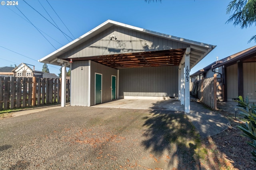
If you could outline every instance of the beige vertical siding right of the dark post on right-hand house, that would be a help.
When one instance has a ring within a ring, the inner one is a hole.
[[[244,97],[256,99],[256,63],[243,63]]]

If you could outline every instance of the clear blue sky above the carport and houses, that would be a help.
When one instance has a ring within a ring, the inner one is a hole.
[[[226,14],[230,1],[162,0],[161,3],[148,3],[144,0],[48,0],[70,33],[46,0],[18,0],[16,6],[7,6],[7,0],[4,0],[5,5],[0,5],[0,67],[27,63],[34,65],[36,70],[42,70],[43,63],[39,63],[39,59],[72,41],[70,38],[76,39],[104,21],[114,20],[216,45],[210,54],[191,69],[192,74],[216,61],[217,56],[223,59],[255,45],[254,42],[248,43],[256,34],[255,27],[240,29],[232,23],[226,23],[230,16]],[[52,23],[53,19],[70,38],[64,37],[60,30],[26,2]],[[21,12],[44,32],[42,34],[52,45]],[[60,66],[48,65],[48,68],[50,72],[58,74]]]

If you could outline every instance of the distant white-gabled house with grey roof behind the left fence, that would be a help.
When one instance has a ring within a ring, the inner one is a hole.
[[[34,68],[28,66],[30,64],[21,63],[16,68],[12,68],[12,72],[15,77],[40,77],[40,78],[60,78],[53,73],[47,73],[42,71],[36,71]]]

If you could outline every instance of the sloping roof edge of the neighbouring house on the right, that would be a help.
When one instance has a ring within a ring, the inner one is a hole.
[[[254,57],[254,58],[256,57],[256,46],[250,47],[248,49],[245,49],[243,51],[240,51],[238,53],[230,55],[230,56],[228,56],[224,59],[221,59],[219,61],[215,61],[215,62],[211,63],[210,65],[204,67],[203,69],[198,70],[197,72],[191,74],[190,77],[194,77],[194,76],[197,76],[204,72],[208,72],[208,70],[213,70],[213,69],[218,68],[223,65],[230,66],[232,64],[237,63],[237,61],[245,61],[252,57]],[[256,59],[255,59],[255,61],[256,61]]]

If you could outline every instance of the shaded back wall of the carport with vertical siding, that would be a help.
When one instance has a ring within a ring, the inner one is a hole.
[[[178,96],[178,66],[124,68],[119,71],[119,96]]]

